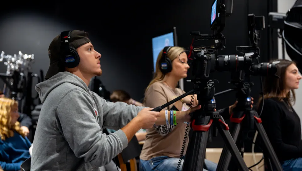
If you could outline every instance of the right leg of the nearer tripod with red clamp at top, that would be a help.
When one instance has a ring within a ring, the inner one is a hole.
[[[215,125],[217,126],[217,129],[218,129],[220,135],[222,136],[224,142],[226,143],[226,146],[228,147],[230,153],[232,154],[233,157],[235,157],[239,169],[241,171],[248,171],[249,169],[246,166],[246,164],[244,163],[244,160],[241,157],[241,154],[229,132],[229,127],[227,126],[227,124],[225,124],[223,118],[220,116],[220,119],[215,119],[214,122],[215,122]],[[219,169],[217,168],[217,170],[219,170]]]

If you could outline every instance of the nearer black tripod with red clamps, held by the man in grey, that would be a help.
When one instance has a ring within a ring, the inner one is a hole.
[[[201,104],[201,109],[195,111],[192,116],[193,121],[191,122],[191,128],[193,130],[193,135],[187,147],[182,171],[203,170],[205,150],[209,136],[208,131],[212,123],[214,123],[214,126],[220,132],[226,146],[230,149],[232,156],[237,159],[236,162],[240,170],[248,170],[232,139],[228,125],[225,124],[224,119],[220,116],[219,112],[215,111],[214,81],[207,79],[200,81],[195,80],[194,82],[199,83],[194,90],[197,94],[199,104]]]

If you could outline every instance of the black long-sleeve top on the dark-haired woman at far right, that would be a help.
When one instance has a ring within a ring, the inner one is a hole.
[[[259,113],[260,110],[261,106]],[[292,107],[276,98],[266,99],[260,117],[271,145],[281,162],[302,157],[301,122]]]

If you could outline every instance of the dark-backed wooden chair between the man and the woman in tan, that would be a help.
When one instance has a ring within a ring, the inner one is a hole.
[[[117,156],[119,159],[120,169],[127,171],[126,163],[129,161],[130,171],[138,171],[135,157],[141,154],[141,146],[136,136],[133,136],[128,146]]]

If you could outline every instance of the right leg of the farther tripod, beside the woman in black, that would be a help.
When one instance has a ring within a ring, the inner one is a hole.
[[[259,118],[259,115],[256,111],[254,111],[254,119],[255,119],[255,125],[256,125],[256,128],[262,138],[262,141],[264,142],[264,145],[265,145],[265,149],[266,149],[266,152],[268,153],[269,155],[269,158],[271,159],[271,162],[273,164],[273,167],[274,170],[276,171],[282,171],[282,166],[276,156],[276,153],[273,149],[273,147],[271,146],[271,142],[269,141],[267,135],[266,135],[266,132],[263,128],[263,125],[261,124],[261,119]]]

